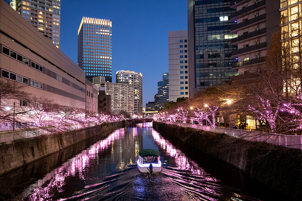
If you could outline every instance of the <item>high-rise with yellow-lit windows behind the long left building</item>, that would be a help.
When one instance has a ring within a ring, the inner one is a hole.
[[[60,48],[60,0],[10,0],[10,6]]]

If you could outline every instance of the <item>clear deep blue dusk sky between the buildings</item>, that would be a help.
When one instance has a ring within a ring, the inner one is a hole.
[[[168,73],[168,31],[187,30],[186,0],[63,0],[61,47],[77,63],[82,18],[112,21],[112,82],[116,71],[143,74],[143,107]]]

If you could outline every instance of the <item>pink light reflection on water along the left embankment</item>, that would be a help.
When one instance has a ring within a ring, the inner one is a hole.
[[[63,192],[62,187],[65,185],[65,179],[68,176],[75,176],[76,173],[82,178],[85,167],[89,166],[89,162],[95,159],[99,152],[107,149],[114,140],[124,138],[124,128],[114,131],[106,139],[101,140],[87,150],[82,151],[76,157],[69,159],[63,163],[61,167],[56,168],[51,173],[48,173],[43,179],[37,183],[32,184],[27,190],[25,190],[25,196],[29,195],[28,200],[48,200],[53,196],[53,189],[57,189],[58,192]],[[48,184],[43,185],[45,182]],[[38,186],[35,188],[35,186]],[[29,193],[33,189],[33,193]],[[27,194],[27,195],[26,195]],[[31,195],[30,195],[31,194]],[[64,200],[64,199],[60,199]]]

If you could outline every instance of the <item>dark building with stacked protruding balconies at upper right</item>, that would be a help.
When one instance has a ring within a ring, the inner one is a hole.
[[[231,8],[236,9],[231,20],[237,23],[231,31],[238,35],[231,39],[231,44],[238,46],[238,50],[232,51],[232,57],[238,61],[232,69],[239,71],[240,79],[240,75],[265,62],[272,35],[279,27],[280,6],[274,0],[244,0],[232,1]]]

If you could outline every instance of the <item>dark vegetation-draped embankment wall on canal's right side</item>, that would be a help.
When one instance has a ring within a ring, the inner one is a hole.
[[[251,142],[209,131],[183,128],[153,121],[153,129],[173,136],[203,153],[229,163],[251,178],[293,200],[301,200],[301,150]]]

